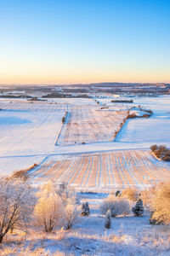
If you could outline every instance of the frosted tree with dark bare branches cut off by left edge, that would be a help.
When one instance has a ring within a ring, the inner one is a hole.
[[[0,242],[9,230],[26,228],[35,200],[28,183],[0,178]]]

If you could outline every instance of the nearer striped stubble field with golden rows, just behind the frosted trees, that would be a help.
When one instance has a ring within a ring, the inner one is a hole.
[[[31,172],[33,183],[69,183],[78,189],[144,189],[170,178],[170,165],[148,151],[48,157]]]

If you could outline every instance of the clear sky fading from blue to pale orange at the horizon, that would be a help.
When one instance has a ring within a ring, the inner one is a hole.
[[[169,0],[0,0],[0,84],[170,83]]]

